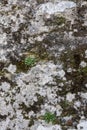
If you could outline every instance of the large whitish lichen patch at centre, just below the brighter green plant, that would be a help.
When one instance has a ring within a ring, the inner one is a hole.
[[[54,101],[56,95],[52,94],[52,90],[46,88],[46,91],[44,91],[44,88],[41,87],[53,81],[53,76],[56,75],[57,66],[50,62],[33,67],[27,74],[20,74],[20,77],[16,78],[16,82],[21,87],[22,96],[26,95],[24,99],[26,105],[34,103],[33,99],[36,93],[43,96],[47,95],[50,102]],[[27,85],[24,82],[27,82]]]

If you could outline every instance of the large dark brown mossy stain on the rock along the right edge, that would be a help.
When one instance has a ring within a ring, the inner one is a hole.
[[[67,92],[78,93],[87,91],[85,84],[87,83],[87,67],[82,68],[80,66],[81,61],[87,62],[85,58],[85,50],[87,45],[79,45],[75,49],[64,51],[61,54],[60,60],[63,62],[63,67],[66,72],[67,80],[71,80],[70,84],[64,83],[63,92],[58,91],[58,94],[65,95]],[[71,68],[72,72],[67,72],[67,69]],[[75,71],[74,71],[75,70]]]

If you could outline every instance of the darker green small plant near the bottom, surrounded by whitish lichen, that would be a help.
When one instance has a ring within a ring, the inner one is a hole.
[[[55,123],[56,121],[56,115],[55,114],[52,114],[51,112],[46,112],[45,115],[43,116],[43,119],[49,123],[49,122],[52,122],[53,124]]]

